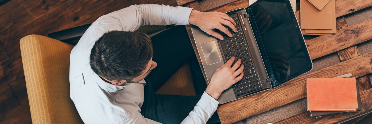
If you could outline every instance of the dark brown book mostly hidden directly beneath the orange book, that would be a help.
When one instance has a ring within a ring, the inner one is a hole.
[[[357,98],[358,98],[358,108],[356,109],[356,111],[360,111],[362,110],[362,101],[360,101],[358,83],[356,83],[356,92],[357,92]],[[310,111],[310,117],[321,117],[325,115],[334,115],[334,114],[341,114],[341,113],[348,113],[348,112],[350,111]]]

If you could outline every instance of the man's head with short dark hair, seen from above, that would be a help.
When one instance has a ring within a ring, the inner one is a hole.
[[[153,46],[144,33],[110,31],[103,34],[90,53],[90,67],[113,85],[137,82],[156,67]]]

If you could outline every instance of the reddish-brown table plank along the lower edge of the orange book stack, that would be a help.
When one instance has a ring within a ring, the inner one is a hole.
[[[362,110],[358,112],[350,112],[345,114],[328,115],[318,118],[311,118],[309,112],[296,115],[276,122],[275,124],[329,124],[329,123],[340,123],[349,120],[349,118],[358,117],[362,114],[367,114],[372,111],[372,89],[367,89],[360,92],[360,100],[362,101]]]

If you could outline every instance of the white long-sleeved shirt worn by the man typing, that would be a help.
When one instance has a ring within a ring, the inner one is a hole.
[[[94,42],[111,30],[135,31],[143,25],[188,25],[191,10],[164,5],[133,5],[99,17],[87,29],[71,51],[70,60],[71,99],[84,123],[158,123],[144,118],[140,113],[146,82],[142,80],[140,83],[118,86],[103,81],[90,68],[90,51]],[[218,102],[204,92],[182,123],[206,123],[217,106]]]

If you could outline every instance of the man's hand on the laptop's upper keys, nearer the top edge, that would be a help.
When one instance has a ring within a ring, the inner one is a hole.
[[[222,25],[229,26],[234,32],[236,32],[234,20],[225,13],[221,12],[199,12],[192,10],[189,17],[189,23],[198,26],[208,35],[217,37],[220,40],[224,40],[221,34],[215,32],[213,29],[221,30],[226,35],[232,37],[232,34],[228,29]]]

